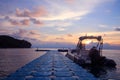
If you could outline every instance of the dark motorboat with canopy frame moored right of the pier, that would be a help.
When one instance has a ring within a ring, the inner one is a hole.
[[[96,39],[97,45],[87,50],[83,40]],[[66,56],[81,66],[106,66],[115,67],[116,63],[102,55],[103,38],[102,36],[81,36],[75,49],[68,50]]]

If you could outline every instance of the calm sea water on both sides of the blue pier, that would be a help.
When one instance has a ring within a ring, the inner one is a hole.
[[[56,48],[49,49],[57,50]],[[46,53],[45,51],[36,52],[35,50],[35,48],[0,49],[0,80]],[[65,55],[66,53],[62,54]],[[116,68],[94,69],[97,78],[100,80],[120,80],[120,50],[103,50],[102,55],[109,59],[113,59],[117,63],[117,66]]]

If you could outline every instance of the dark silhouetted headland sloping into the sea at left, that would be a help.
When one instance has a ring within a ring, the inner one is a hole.
[[[8,35],[0,35],[0,48],[30,48],[32,45],[26,40],[15,39]]]

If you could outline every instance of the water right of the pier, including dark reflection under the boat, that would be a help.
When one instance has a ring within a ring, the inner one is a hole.
[[[120,80],[120,50],[103,50],[103,56],[115,60],[116,68],[93,66],[86,69],[100,80]]]

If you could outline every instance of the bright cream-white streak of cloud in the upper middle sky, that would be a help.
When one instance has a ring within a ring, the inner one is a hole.
[[[87,10],[83,10],[80,12],[65,10],[65,11],[61,11],[59,14],[51,14],[47,17],[40,17],[39,19],[45,20],[45,21],[70,20],[70,19],[72,19],[72,20],[77,19],[78,20],[78,19],[82,19],[81,17],[88,14],[88,13],[89,13],[89,11],[87,11]]]

